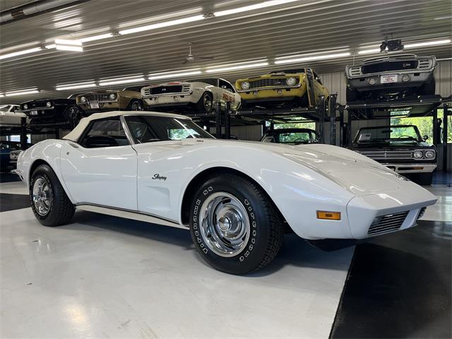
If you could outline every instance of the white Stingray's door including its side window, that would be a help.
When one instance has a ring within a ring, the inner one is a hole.
[[[94,120],[61,148],[61,175],[76,203],[137,209],[137,155],[119,117]]]

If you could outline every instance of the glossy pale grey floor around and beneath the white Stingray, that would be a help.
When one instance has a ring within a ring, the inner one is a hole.
[[[450,221],[451,188],[430,190],[422,219]],[[88,212],[51,228],[30,208],[0,213],[0,239],[1,338],[328,338],[354,252],[290,234],[239,277],[206,266],[186,230]]]

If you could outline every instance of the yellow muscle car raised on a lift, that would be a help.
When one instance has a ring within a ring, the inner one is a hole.
[[[263,76],[238,79],[235,88],[242,97],[242,108],[314,107],[319,95],[330,93],[312,69],[272,71]]]

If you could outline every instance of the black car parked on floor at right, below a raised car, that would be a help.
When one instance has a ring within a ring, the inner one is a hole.
[[[349,147],[421,185],[432,184],[436,148],[421,137],[415,125],[375,126],[359,129]]]

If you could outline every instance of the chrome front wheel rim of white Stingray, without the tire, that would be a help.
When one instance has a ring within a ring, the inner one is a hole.
[[[250,222],[245,206],[232,194],[209,196],[199,213],[200,231],[208,248],[223,257],[236,256],[246,246]]]

